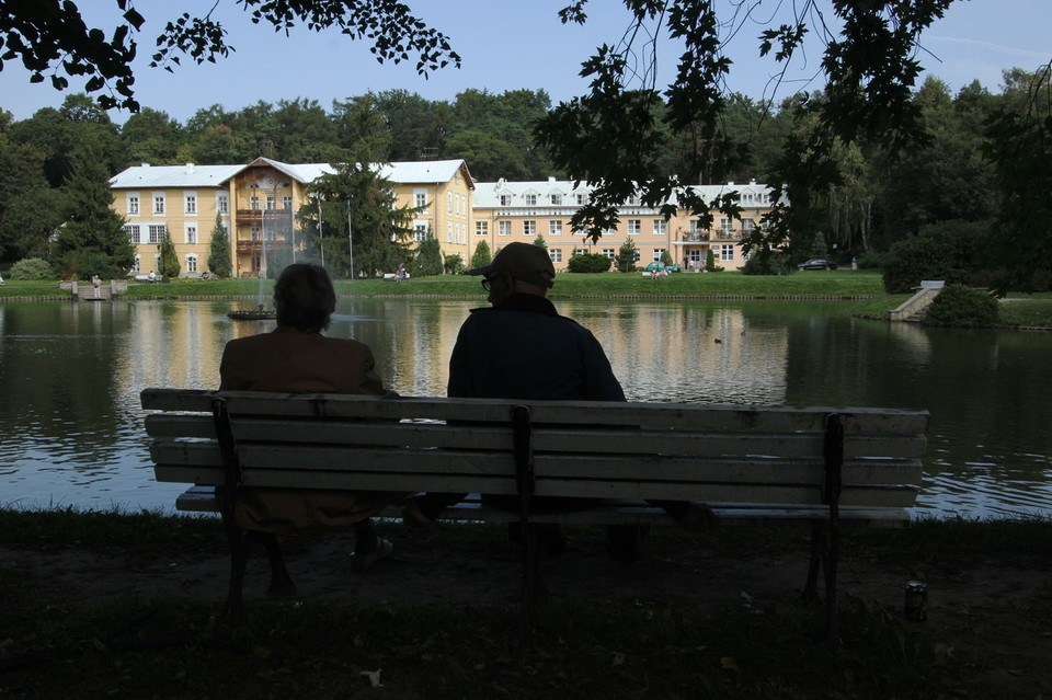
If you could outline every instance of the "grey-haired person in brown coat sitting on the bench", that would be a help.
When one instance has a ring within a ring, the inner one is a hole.
[[[219,365],[219,389],[397,395],[376,374],[373,351],[354,340],[325,337],[336,294],[324,267],[294,263],[274,285],[277,328],[227,343]],[[364,571],[389,555],[391,543],[377,536],[371,516],[404,494],[308,489],[244,489],[237,494],[238,524],[275,535],[348,526],[354,529],[352,569]]]

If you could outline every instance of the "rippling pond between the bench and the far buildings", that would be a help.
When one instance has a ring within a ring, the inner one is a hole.
[[[443,395],[477,300],[341,299],[330,335],[387,383]],[[629,400],[927,409],[918,513],[1052,515],[1052,334],[850,318],[846,302],[579,301]],[[242,301],[0,303],[0,505],[171,509],[142,434],[145,387],[214,388],[224,344],[273,321]]]

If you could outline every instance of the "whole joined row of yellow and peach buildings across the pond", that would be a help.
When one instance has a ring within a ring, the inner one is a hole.
[[[771,206],[770,188],[755,181],[698,185],[695,188],[706,200],[737,192],[742,207],[741,218],[717,214],[712,226],[706,227],[684,210],[666,220],[658,207],[632,198],[620,208],[617,227],[592,242],[570,229],[570,217],[588,200],[587,183],[553,177],[474,183],[462,160],[399,162],[378,169],[393,184],[397,206],[415,209],[409,246],[434,236],[444,255],[460,255],[465,264],[481,241],[495,254],[511,241],[534,242],[541,237],[557,271],[564,271],[579,252],[616,259],[629,241],[636,245],[641,267],[667,253],[684,269],[699,271],[711,251],[717,265],[737,269],[745,264],[742,237],[761,226]],[[111,187],[113,207],[126,218],[128,240],[136,246],[133,274],[159,271],[160,245],[168,232],[181,274],[201,276],[207,269],[218,220],[229,233],[235,275],[259,276],[268,253],[287,251],[305,240],[301,229],[315,226],[317,218],[297,221],[296,213],[316,204],[308,196],[310,183],[332,172],[329,163],[289,164],[267,158],[247,165],[128,168],[111,180]]]

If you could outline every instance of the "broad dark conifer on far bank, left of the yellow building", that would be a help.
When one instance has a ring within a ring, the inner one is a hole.
[[[89,142],[78,149],[64,195],[65,223],[53,245],[55,266],[66,278],[127,274],[135,249],[124,230],[124,217],[111,208],[110,173],[98,145]]]

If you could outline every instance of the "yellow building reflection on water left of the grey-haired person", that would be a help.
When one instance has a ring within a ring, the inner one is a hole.
[[[252,335],[273,323],[238,322],[225,302],[130,303],[134,323],[117,347],[116,380],[135,391],[145,387],[215,389],[227,341]]]

